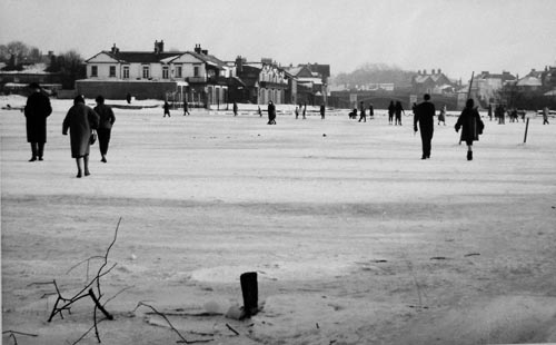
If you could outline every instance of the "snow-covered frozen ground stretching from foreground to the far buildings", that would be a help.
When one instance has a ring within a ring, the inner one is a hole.
[[[384,111],[296,120],[278,106],[267,126],[245,105],[116,109],[108,164],[96,144],[78,179],[61,135],[71,101],[52,105],[40,162],[23,115],[0,110],[2,329],[37,335],[19,344],[72,344],[93,325],[90,299],[48,323],[54,289],[37,283],[81,289],[99,262],[71,268],[106,254],[120,217],[102,300],[125,290],[106,304],[105,344],[179,341],[139,302],[208,344],[556,342],[556,124],[532,119],[524,145],[523,122],[485,119],[467,161],[448,117],[420,160],[411,118],[388,126]],[[226,318],[244,272],[261,312]]]

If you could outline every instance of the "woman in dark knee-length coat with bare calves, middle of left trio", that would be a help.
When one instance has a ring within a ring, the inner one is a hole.
[[[69,109],[62,124],[62,135],[70,131],[71,157],[76,158],[77,176],[82,176],[81,160],[83,160],[85,176],[91,175],[89,171],[89,150],[92,129],[99,125],[99,116],[91,108],[85,105],[82,96],[73,99],[73,106]]]

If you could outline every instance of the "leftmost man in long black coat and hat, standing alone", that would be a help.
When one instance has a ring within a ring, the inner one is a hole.
[[[27,98],[24,109],[27,141],[31,144],[32,156],[29,161],[36,161],[37,158],[42,160],[44,142],[47,142],[47,117],[52,114],[52,107],[50,99],[41,92],[37,82],[31,82],[29,89],[31,89],[31,95]]]

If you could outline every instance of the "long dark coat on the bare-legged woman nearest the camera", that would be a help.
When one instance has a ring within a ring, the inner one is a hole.
[[[89,155],[91,130],[99,126],[99,116],[83,103],[71,107],[63,119],[62,134],[70,130],[71,157]]]

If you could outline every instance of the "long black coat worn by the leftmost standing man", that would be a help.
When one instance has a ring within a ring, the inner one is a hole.
[[[33,92],[27,99],[27,141],[47,142],[47,117],[52,112],[50,99],[41,92]]]

